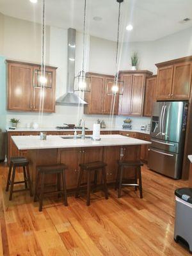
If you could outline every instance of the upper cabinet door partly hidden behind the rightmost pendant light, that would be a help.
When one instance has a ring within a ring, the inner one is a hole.
[[[103,113],[108,115],[118,115],[118,100],[119,95],[109,95],[112,93],[112,86],[114,85],[114,79],[105,79],[105,90],[104,90],[104,109]]]

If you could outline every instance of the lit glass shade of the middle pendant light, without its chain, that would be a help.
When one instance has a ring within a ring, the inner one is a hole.
[[[75,77],[74,92],[90,92],[91,90],[91,77],[88,76],[83,70]]]

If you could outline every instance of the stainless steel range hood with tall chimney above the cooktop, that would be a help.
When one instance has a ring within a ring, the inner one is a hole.
[[[56,100],[56,104],[87,104],[74,93],[76,63],[76,29],[68,28],[67,42],[67,92]]]

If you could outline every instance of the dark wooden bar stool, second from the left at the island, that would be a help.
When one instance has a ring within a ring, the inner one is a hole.
[[[43,199],[44,195],[54,195],[58,194],[64,195],[64,205],[67,206],[67,187],[66,187],[66,180],[65,180],[65,170],[67,169],[67,166],[65,164],[54,164],[51,166],[37,166],[36,169],[36,179],[35,179],[35,196],[34,196],[34,202],[36,200],[39,200],[39,211],[42,211],[43,207]],[[45,189],[45,175],[50,174],[56,174],[57,175],[57,190],[56,191],[44,191]],[[62,177],[62,179],[61,179]],[[40,180],[40,194],[38,195],[38,182]],[[61,189],[61,180],[63,189]]]

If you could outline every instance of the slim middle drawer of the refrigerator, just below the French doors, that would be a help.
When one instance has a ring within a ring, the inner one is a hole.
[[[152,148],[179,153],[179,143],[151,138]]]

